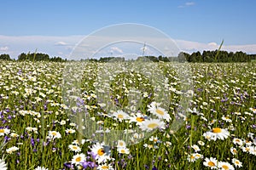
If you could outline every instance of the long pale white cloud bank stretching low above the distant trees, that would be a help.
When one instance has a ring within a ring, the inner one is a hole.
[[[92,57],[92,54],[98,53],[98,55],[109,55],[111,52],[113,54],[143,54],[143,43],[146,43],[144,48],[144,55],[155,55],[158,56],[161,52],[166,56],[175,56],[176,47],[181,51],[187,52],[189,54],[195,51],[203,50],[216,50],[219,44],[216,42],[191,42],[185,40],[174,40],[174,43],[163,39],[154,37],[145,37],[141,40],[142,43],[134,42],[120,42],[113,43],[113,46],[106,46],[109,42],[120,41],[115,37],[90,37],[86,42],[82,42],[79,46],[76,46],[84,36],[68,36],[68,37],[44,37],[44,36],[26,36],[26,37],[7,37],[0,35],[0,52],[6,53],[13,59],[17,59],[18,55],[21,53],[35,52],[46,53],[49,56],[60,56],[64,59],[69,59],[70,54],[76,56],[79,54],[79,50],[83,52],[83,57]],[[127,39],[127,38],[126,38]],[[131,39],[131,38],[129,38]],[[132,39],[131,39],[132,40]],[[62,44],[62,45],[56,45]],[[3,45],[8,44],[8,45]],[[66,44],[66,45],[64,45]],[[177,46],[176,46],[177,44]],[[105,47],[106,48],[102,48]],[[73,48],[76,50],[73,51]],[[99,49],[101,49],[99,51]],[[10,51],[11,49],[11,51]],[[106,50],[104,50],[106,49]],[[244,45],[224,45],[221,50],[227,51],[243,51],[247,54],[256,54],[256,44],[244,44]],[[175,54],[172,54],[175,52]],[[73,59],[73,58],[72,58]],[[79,58],[78,58],[79,59]]]

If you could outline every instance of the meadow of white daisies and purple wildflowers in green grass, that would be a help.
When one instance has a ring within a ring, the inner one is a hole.
[[[73,100],[66,65],[0,60],[0,169],[255,169],[255,62],[189,64],[186,90],[172,63],[86,63]]]

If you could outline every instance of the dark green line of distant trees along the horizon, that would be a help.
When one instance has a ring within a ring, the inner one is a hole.
[[[153,62],[170,62],[170,61],[177,61],[177,62],[199,62],[199,63],[212,63],[212,62],[251,62],[252,60],[256,60],[256,54],[246,54],[244,52],[238,51],[236,53],[227,52],[227,51],[203,51],[201,52],[194,52],[192,54],[181,52],[178,54],[177,57],[166,57],[166,56],[143,56],[138,57],[137,59],[150,59]],[[0,54],[0,59],[6,60],[15,60],[11,59],[9,54]],[[18,61],[22,60],[30,60],[30,61],[54,61],[54,62],[66,62],[67,59],[62,59],[61,57],[53,57],[50,58],[48,54],[42,53],[22,53],[18,56]],[[82,59],[82,60],[90,60],[95,62],[109,62],[111,60],[119,60],[123,61],[125,58],[121,57],[102,57],[100,59]]]

